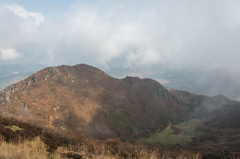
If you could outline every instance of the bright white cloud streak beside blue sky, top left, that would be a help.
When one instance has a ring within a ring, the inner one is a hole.
[[[29,12],[26,9],[24,9],[23,6],[21,5],[12,4],[8,5],[7,8],[21,18],[24,19],[34,18],[37,25],[39,25],[40,22],[44,21],[44,16],[41,13]]]

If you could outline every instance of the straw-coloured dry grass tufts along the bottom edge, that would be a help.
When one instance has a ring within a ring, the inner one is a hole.
[[[200,159],[198,154],[182,152],[178,154],[178,159]],[[81,146],[59,147],[55,152],[47,151],[46,145],[39,137],[33,141],[23,143],[8,143],[1,141],[0,159],[65,159],[65,158],[82,158],[82,159],[169,159],[169,153],[160,154],[157,150],[147,150],[141,145],[123,144],[117,139],[110,139],[100,142],[88,139]]]

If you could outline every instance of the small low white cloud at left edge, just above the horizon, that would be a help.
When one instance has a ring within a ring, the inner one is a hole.
[[[0,50],[0,60],[8,61],[21,57],[21,54],[15,49],[8,48]]]

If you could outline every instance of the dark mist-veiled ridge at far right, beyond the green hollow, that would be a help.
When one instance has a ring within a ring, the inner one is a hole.
[[[199,118],[210,127],[240,127],[240,102],[230,100],[223,95],[208,97],[172,89],[169,89],[169,92],[180,100],[194,105],[195,111],[191,118]]]

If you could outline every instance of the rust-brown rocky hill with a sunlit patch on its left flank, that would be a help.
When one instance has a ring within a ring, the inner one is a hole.
[[[189,104],[151,79],[85,64],[45,68],[0,92],[1,114],[91,137],[144,136],[183,120]]]

